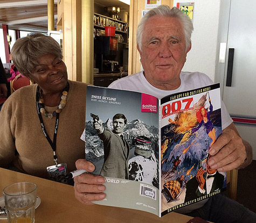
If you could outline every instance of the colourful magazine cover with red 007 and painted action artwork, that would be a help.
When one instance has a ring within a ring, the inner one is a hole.
[[[161,215],[226,189],[226,173],[207,166],[222,133],[219,84],[161,99]]]

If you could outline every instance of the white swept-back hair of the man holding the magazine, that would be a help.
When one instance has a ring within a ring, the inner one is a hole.
[[[146,21],[152,16],[162,16],[162,17],[175,17],[181,21],[181,24],[184,29],[184,35],[186,40],[186,49],[190,46],[191,43],[191,34],[193,31],[193,24],[191,19],[186,16],[181,10],[177,9],[176,7],[170,8],[168,5],[160,5],[157,8],[151,9],[144,15],[138,25],[137,28],[137,44],[139,45],[139,49],[141,50],[142,46],[142,34],[144,25]]]

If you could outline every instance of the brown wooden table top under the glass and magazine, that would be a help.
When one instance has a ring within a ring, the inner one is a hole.
[[[169,213],[162,218],[144,211],[136,211],[128,208],[109,207],[103,205],[86,206],[78,202],[74,197],[73,186],[49,181],[19,172],[0,168],[0,196],[5,186],[30,181],[38,186],[37,195],[41,198],[41,204],[36,209],[36,223],[65,223],[65,222],[168,222],[185,223],[192,219],[189,216]],[[0,220],[5,223],[7,220]]]

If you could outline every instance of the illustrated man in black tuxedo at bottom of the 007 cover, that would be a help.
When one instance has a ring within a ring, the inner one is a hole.
[[[211,155],[207,156],[210,158]],[[206,161],[206,170],[198,167],[197,175],[186,183],[186,196],[184,203],[189,200],[209,195],[209,193],[218,191],[223,188],[224,175],[220,174],[216,169],[211,169]]]

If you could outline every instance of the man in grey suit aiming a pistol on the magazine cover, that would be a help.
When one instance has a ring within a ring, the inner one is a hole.
[[[127,119],[124,114],[113,117],[113,131],[104,128],[102,122],[93,119],[94,128],[104,146],[104,163],[100,171],[101,176],[128,179],[129,145],[124,139],[123,130]]]

